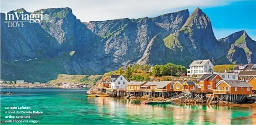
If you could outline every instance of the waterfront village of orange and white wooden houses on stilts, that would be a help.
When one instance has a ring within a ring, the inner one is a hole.
[[[243,102],[256,95],[256,64],[236,65],[224,73],[214,72],[211,60],[194,60],[187,69],[188,81],[131,81],[123,75],[112,74],[102,79],[88,93],[112,96],[180,99],[183,101]]]

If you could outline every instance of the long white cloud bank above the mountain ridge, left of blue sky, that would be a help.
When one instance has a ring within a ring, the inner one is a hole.
[[[45,8],[70,7],[82,22],[161,15],[181,9],[213,7],[234,0],[1,0],[1,12],[24,8],[33,12]],[[191,10],[190,10],[191,11]]]

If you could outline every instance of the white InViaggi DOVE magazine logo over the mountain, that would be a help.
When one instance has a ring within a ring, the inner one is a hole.
[[[8,27],[25,27],[25,22],[39,23],[41,21],[48,21],[50,16],[48,14],[24,14],[24,12],[13,12],[13,14],[5,13],[4,23],[8,24]]]

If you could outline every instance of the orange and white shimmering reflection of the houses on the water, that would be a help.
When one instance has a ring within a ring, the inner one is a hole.
[[[250,116],[256,108],[221,107],[186,104],[141,105],[139,100],[111,97],[88,98],[97,104],[102,119],[113,124],[256,124],[256,118],[234,119]]]

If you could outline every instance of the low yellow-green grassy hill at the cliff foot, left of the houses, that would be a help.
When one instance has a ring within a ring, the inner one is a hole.
[[[67,75],[59,74],[57,79],[51,80],[50,83],[59,83],[59,82],[75,82],[75,83],[88,83],[94,84],[102,78],[102,75]]]

